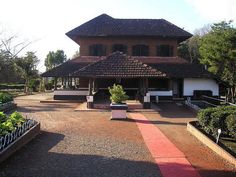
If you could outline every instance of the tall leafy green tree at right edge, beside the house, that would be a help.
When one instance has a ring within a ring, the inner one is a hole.
[[[200,42],[200,62],[229,86],[228,96],[236,97],[236,29],[231,21],[215,23]]]

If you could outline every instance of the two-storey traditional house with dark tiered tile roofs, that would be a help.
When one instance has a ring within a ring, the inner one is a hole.
[[[54,99],[87,98],[92,106],[114,83],[144,107],[197,92],[219,96],[217,81],[204,67],[177,56],[179,43],[192,35],[164,19],[102,14],[66,35],[80,46],[80,57],[42,74],[62,79],[63,89],[54,91]]]

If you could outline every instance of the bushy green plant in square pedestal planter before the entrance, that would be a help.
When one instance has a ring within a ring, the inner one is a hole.
[[[126,111],[128,106],[124,103],[129,97],[126,95],[121,85],[114,84],[112,88],[108,88],[111,94],[111,119],[126,119]]]

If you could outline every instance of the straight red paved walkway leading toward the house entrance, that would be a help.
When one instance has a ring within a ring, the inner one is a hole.
[[[145,116],[139,113],[130,116],[136,121],[163,177],[200,177],[185,155]]]

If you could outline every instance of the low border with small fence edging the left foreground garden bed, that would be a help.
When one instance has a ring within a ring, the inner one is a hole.
[[[0,163],[40,133],[40,123],[27,119],[15,131],[0,136]]]

